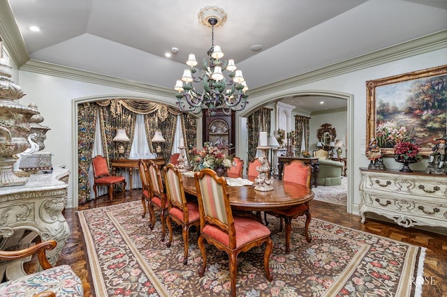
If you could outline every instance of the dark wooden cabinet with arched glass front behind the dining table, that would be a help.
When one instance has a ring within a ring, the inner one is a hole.
[[[226,115],[221,110],[210,115],[203,110],[203,142],[210,142],[226,155],[235,153],[235,112]]]

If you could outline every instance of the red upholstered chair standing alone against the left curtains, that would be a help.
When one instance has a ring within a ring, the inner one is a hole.
[[[113,188],[115,185],[123,184],[123,195],[126,192],[126,178],[124,176],[113,176],[110,174],[107,160],[102,155],[96,155],[91,159],[91,165],[93,167],[94,184],[93,190],[95,192],[95,199],[98,198],[98,185],[106,185],[108,187],[108,195],[110,202],[113,199]]]

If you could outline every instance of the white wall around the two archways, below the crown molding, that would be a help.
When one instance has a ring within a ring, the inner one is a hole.
[[[356,206],[360,201],[360,193],[358,192],[358,184],[360,183],[359,167],[367,167],[368,160],[362,155],[361,144],[366,136],[366,88],[365,82],[370,79],[379,79],[391,75],[408,73],[415,70],[431,68],[447,64],[447,49],[436,50],[426,54],[419,54],[410,58],[384,63],[380,66],[373,66],[363,70],[357,70],[352,73],[322,79],[318,82],[309,84],[300,84],[297,86],[288,86],[285,93],[300,93],[309,90],[321,90],[335,93],[346,93],[352,96],[353,102],[348,104],[348,131],[350,135],[350,152],[349,152],[349,200],[352,201],[353,213],[358,213]],[[77,168],[72,168],[72,160],[76,158],[73,155],[75,144],[73,144],[72,125],[72,100],[78,98],[89,97],[105,97],[105,96],[131,96],[148,98],[159,102],[168,102],[173,104],[174,99],[162,98],[161,96],[152,96],[147,93],[138,93],[117,89],[110,86],[101,86],[78,82],[71,79],[59,77],[51,77],[49,75],[39,75],[20,70],[18,77],[13,80],[22,86],[28,94],[20,100],[22,105],[29,105],[34,102],[38,106],[39,112],[45,118],[42,125],[50,127],[52,130],[47,132],[45,140],[45,151],[54,154],[53,164],[67,165],[73,174],[78,172]],[[275,93],[264,93],[262,96],[251,98],[251,107],[266,105],[275,98]],[[352,117],[353,122],[350,122]],[[241,121],[237,121],[237,130],[240,130]],[[338,132],[338,130],[337,130]],[[344,133],[345,131],[342,131]],[[240,137],[237,137],[241,139]],[[240,151],[240,150],[237,150]],[[402,165],[396,163],[391,158],[386,158],[385,165],[388,168],[400,168]],[[425,169],[425,164],[418,163],[411,165],[412,169]],[[77,186],[77,185],[76,185]],[[73,199],[73,178],[70,179],[69,188],[69,205]]]

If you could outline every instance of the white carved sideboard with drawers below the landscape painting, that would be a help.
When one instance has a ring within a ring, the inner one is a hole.
[[[383,215],[403,227],[447,228],[447,176],[360,168],[360,216]]]

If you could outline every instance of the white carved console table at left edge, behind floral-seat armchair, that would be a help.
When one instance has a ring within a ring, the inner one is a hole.
[[[67,204],[70,172],[55,166],[50,174],[31,174],[25,185],[0,188],[1,250],[29,244],[36,237],[57,241],[47,258],[54,266],[70,230],[62,211]]]

